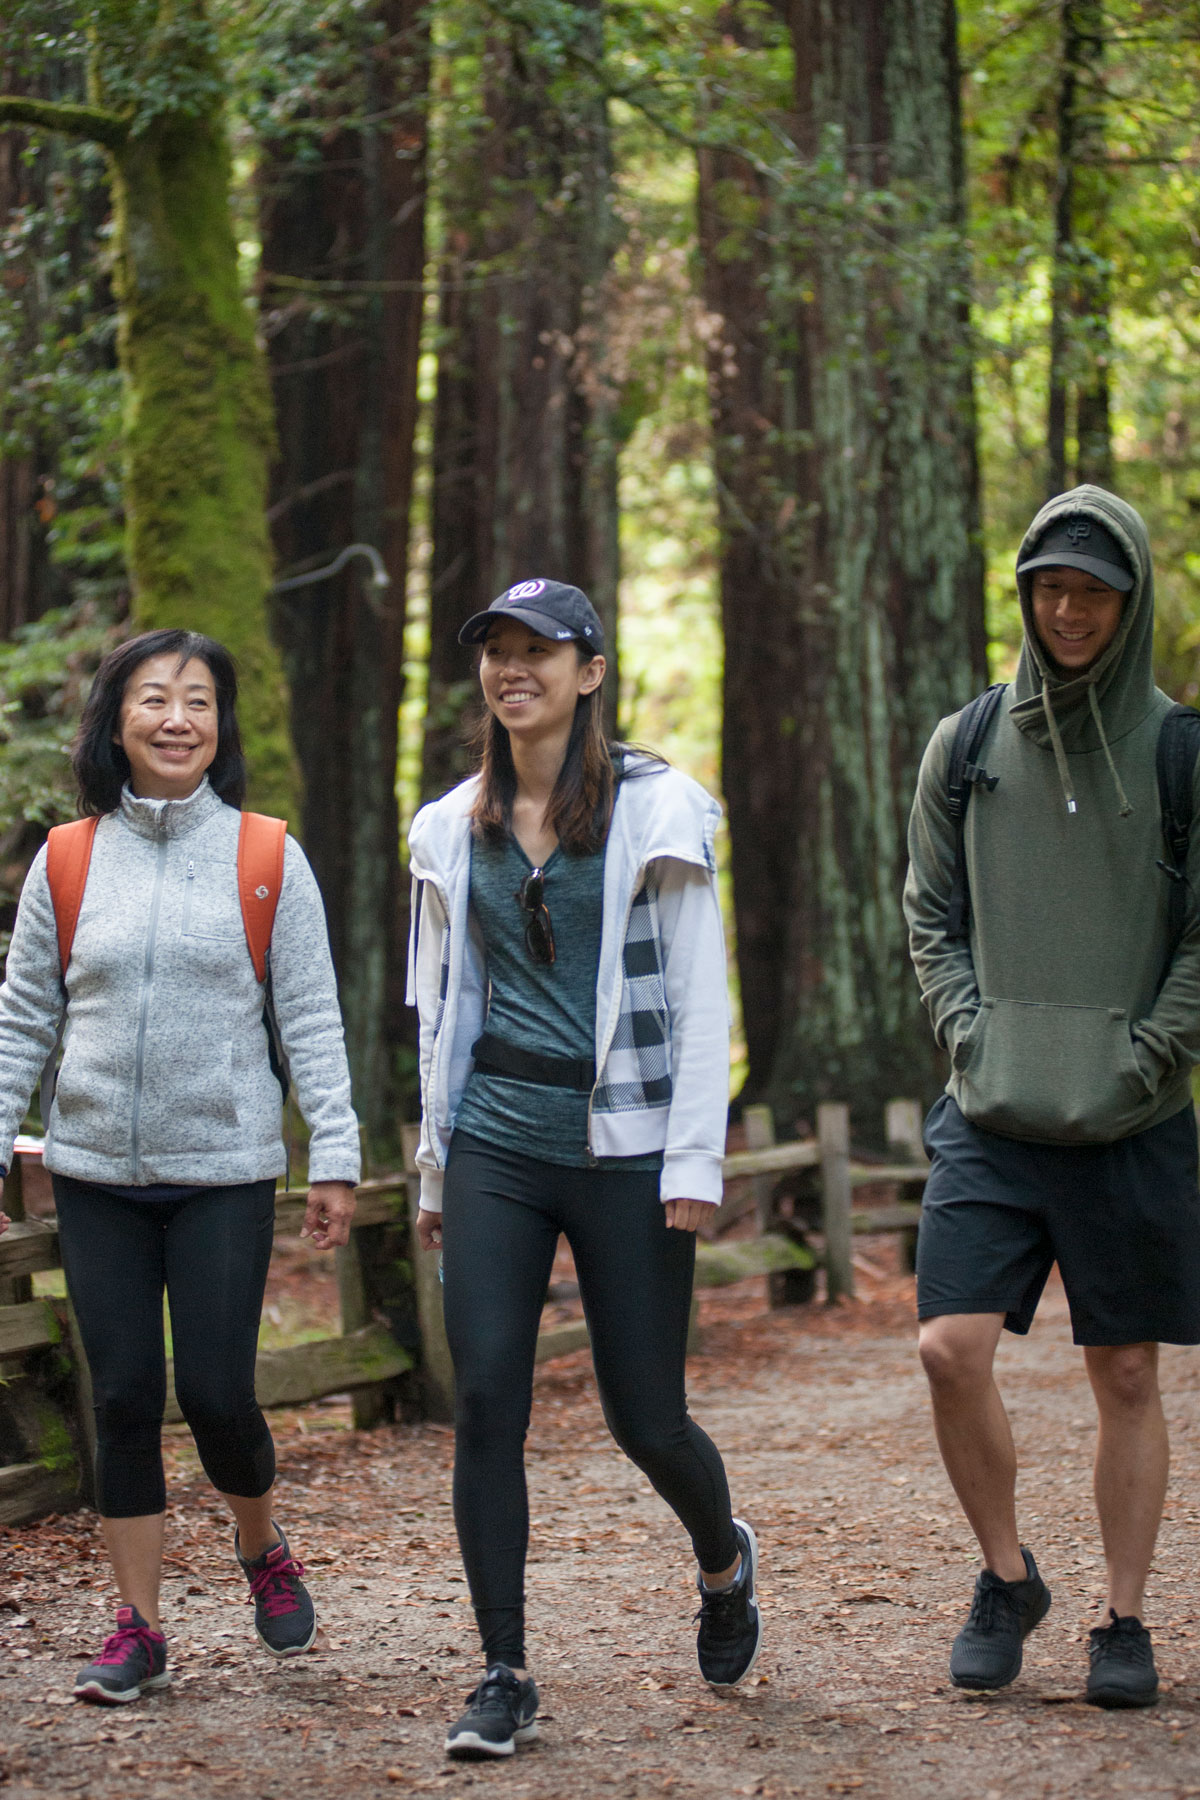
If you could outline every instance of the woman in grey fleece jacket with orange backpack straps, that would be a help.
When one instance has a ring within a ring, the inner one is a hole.
[[[193,632],[148,632],[104,659],[74,749],[81,810],[99,823],[70,961],[63,976],[41,850],[0,988],[5,1168],[65,1024],[45,1163],[95,1391],[95,1496],[122,1602],[76,1697],[108,1705],[169,1681],[158,1618],[164,1287],[175,1391],[236,1519],[259,1638],[291,1656],[317,1633],[302,1568],[272,1519],[275,1453],[254,1399],[284,1145],[268,986],[239,900],[236,695],[228,652]],[[257,893],[270,898],[264,884]],[[347,1240],[358,1127],[320,893],[291,839],[270,1003],[311,1127],[304,1235],[327,1249]],[[0,1231],[7,1224],[0,1213]]]

